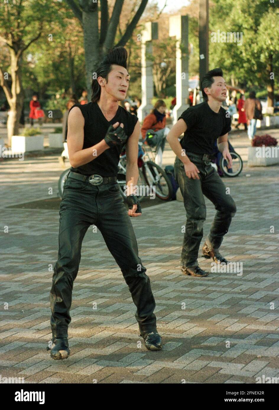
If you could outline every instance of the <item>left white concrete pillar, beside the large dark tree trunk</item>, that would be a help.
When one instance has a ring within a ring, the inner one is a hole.
[[[139,121],[143,121],[153,108],[153,62],[149,56],[152,55],[152,40],[157,39],[158,23],[148,21],[141,33],[141,105],[137,110]]]

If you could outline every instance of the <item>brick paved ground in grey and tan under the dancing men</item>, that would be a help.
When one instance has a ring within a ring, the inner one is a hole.
[[[278,130],[272,135],[278,137]],[[248,139],[232,143],[247,159]],[[172,161],[171,151],[166,158]],[[120,269],[100,232],[90,228],[74,283],[71,355],[54,361],[46,345],[51,338],[49,269],[58,253],[59,210],[9,205],[49,198],[49,187],[56,196],[61,168],[54,157],[0,162],[2,377],[24,377],[25,383],[255,383],[263,374],[278,377],[278,170],[248,169],[244,163],[238,178],[224,179],[237,214],[221,251],[243,263],[242,276],[182,275],[181,202],[146,208],[143,216],[132,219],[157,303],[164,342],[160,352],[147,351],[141,343],[135,307]],[[204,235],[215,212],[207,199],[206,205]],[[200,257],[199,262],[210,270],[210,261]]]

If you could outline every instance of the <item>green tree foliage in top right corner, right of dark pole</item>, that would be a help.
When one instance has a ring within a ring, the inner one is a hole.
[[[212,33],[218,30],[242,33],[242,41],[239,45],[237,42],[214,43]],[[210,68],[223,68],[228,74],[228,82],[235,85],[266,87],[269,105],[273,103],[274,87],[270,80],[270,60],[278,73],[278,39],[279,8],[276,3],[267,0],[214,0],[210,7]]]

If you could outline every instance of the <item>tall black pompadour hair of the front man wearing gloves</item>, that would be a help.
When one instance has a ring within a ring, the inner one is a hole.
[[[124,47],[114,47],[108,54],[104,57],[103,61],[96,70],[96,79],[92,80],[91,84],[91,101],[92,103],[97,103],[101,96],[101,86],[99,85],[97,78],[103,77],[108,81],[108,74],[112,70],[112,64],[117,64],[118,66],[127,69],[127,57],[128,53]]]

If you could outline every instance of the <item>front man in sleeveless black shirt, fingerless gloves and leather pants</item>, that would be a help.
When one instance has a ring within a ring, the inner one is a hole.
[[[60,204],[58,260],[51,288],[51,357],[69,357],[69,310],[74,280],[81,260],[81,245],[90,225],[101,232],[108,250],[120,267],[136,305],[136,320],[146,348],[160,350],[155,301],[150,279],[138,257],[131,217],[141,216],[141,205],[133,194],[138,181],[140,124],[122,108],[129,87],[127,51],[113,48],[97,68],[92,80],[92,98],[69,110],[67,144],[71,169]],[[117,183],[118,162],[126,144],[127,212]],[[93,249],[96,254],[98,249]]]

